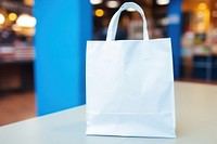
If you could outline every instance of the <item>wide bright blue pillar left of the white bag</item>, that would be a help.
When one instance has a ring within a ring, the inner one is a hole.
[[[35,79],[38,116],[85,104],[89,0],[35,0]]]

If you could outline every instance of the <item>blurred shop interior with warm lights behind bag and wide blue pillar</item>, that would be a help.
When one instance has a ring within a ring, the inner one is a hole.
[[[110,19],[126,1],[88,0],[93,40],[105,40]],[[217,83],[216,0],[133,2],[144,10],[151,39],[177,39],[173,43],[176,80]],[[34,39],[40,22],[34,6],[34,0],[0,0],[0,126],[37,115]],[[142,30],[141,16],[129,9],[120,16],[116,39],[142,39]]]

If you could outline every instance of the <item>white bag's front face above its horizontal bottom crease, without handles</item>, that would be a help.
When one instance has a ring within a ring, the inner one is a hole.
[[[149,48],[144,48],[142,41],[88,44],[87,103],[94,104],[91,110],[159,113],[171,109],[174,81],[170,51],[164,48],[167,42],[162,42],[161,48],[155,43],[159,42],[150,41]],[[149,49],[149,58],[143,56],[145,49]],[[165,51],[161,52],[161,49]]]

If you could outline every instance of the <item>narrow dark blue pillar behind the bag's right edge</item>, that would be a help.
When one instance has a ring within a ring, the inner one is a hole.
[[[170,0],[167,13],[169,18],[167,34],[171,38],[175,78],[180,77],[181,4],[181,0]]]

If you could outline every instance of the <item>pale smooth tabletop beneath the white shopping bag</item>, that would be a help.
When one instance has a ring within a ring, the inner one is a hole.
[[[0,144],[217,144],[217,86],[176,82],[177,139],[86,135],[85,106],[0,127]]]

